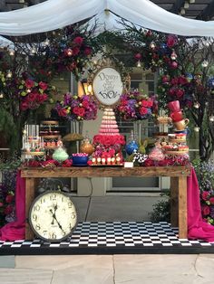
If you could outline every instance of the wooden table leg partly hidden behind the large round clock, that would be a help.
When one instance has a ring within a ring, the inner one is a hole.
[[[28,222],[28,213],[30,206],[34,200],[35,180],[34,178],[26,177],[25,179],[25,240],[34,240],[34,232]]]

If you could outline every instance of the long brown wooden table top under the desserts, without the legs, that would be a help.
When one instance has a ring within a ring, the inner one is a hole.
[[[23,167],[22,177],[189,176],[190,166]]]

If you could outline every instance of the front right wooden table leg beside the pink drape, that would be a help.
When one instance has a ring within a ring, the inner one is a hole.
[[[179,177],[179,238],[187,239],[187,176]]]

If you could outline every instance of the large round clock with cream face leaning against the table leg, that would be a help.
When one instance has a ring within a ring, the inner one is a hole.
[[[67,194],[47,191],[37,196],[29,211],[34,233],[44,241],[62,241],[73,232],[76,210]]]

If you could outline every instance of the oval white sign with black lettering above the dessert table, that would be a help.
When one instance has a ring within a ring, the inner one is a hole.
[[[122,95],[122,77],[111,67],[98,71],[93,79],[92,88],[96,98],[105,106],[112,106]]]

